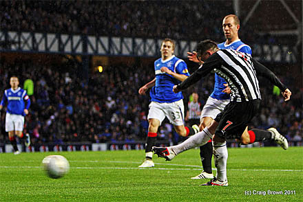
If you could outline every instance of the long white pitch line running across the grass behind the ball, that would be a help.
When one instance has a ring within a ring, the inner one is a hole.
[[[42,166],[0,166],[0,168],[42,168]],[[123,168],[123,167],[70,167],[72,169],[85,170],[201,170],[198,168]],[[213,170],[216,170],[213,168]],[[278,171],[278,172],[303,172],[303,170],[279,170],[279,169],[227,169],[229,171]]]

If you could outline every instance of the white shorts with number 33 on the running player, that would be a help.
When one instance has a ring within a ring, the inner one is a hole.
[[[161,124],[165,117],[167,117],[169,122],[171,122],[171,124],[174,126],[184,125],[183,100],[178,100],[171,103],[151,102],[149,104],[147,119],[157,119]]]

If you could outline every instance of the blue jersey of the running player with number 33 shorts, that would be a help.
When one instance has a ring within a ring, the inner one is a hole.
[[[186,63],[176,56],[171,56],[167,60],[162,60],[162,58],[159,58],[155,61],[154,65],[156,85],[149,92],[151,101],[171,103],[183,99],[182,92],[173,92],[174,85],[178,85],[180,80],[174,78],[174,76],[170,76],[169,74],[162,72],[160,69],[161,67],[167,67],[176,74],[184,74],[189,76]]]

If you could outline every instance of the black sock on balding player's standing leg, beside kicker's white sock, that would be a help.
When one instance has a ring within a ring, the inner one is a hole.
[[[212,173],[211,158],[213,157],[213,144],[211,142],[207,142],[207,144],[200,146],[200,157],[203,170],[207,173]]]

